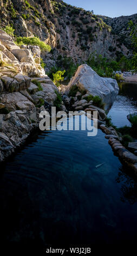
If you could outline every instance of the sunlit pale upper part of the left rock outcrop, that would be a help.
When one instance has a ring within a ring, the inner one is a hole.
[[[37,55],[39,62],[35,62]],[[0,77],[16,74],[27,76],[44,76],[45,72],[40,65],[40,48],[38,46],[17,46],[12,38],[0,29]]]

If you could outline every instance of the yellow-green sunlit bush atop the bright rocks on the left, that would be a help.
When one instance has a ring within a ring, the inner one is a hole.
[[[41,41],[40,38],[37,38],[36,36],[34,36],[33,38],[27,38],[25,36],[19,36],[16,38],[17,44],[19,45],[37,45],[40,46],[41,51],[47,51],[50,52],[51,51],[51,47],[50,45],[45,44],[45,42]]]

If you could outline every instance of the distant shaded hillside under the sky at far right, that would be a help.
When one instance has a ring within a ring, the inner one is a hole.
[[[118,46],[124,44],[129,51],[133,49],[130,38],[130,29],[128,28],[128,22],[133,21],[137,25],[137,14],[130,16],[120,16],[116,18],[110,18],[106,16],[98,16],[108,25],[112,27],[112,33],[118,38]]]

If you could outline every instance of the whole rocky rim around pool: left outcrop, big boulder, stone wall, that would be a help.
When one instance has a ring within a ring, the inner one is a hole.
[[[39,47],[20,48],[9,35],[0,31],[0,50],[0,161],[14,153],[38,127],[40,112],[45,109],[49,111],[54,106],[60,89],[60,110],[83,111],[84,114],[90,111],[92,119],[96,111],[98,126],[106,133],[109,144],[137,174],[137,156],[122,146],[113,127],[106,127],[105,110],[110,109],[119,93],[116,80],[102,78],[83,64],[68,86],[57,88],[40,66]],[[34,56],[37,56],[37,62]],[[75,95],[69,95],[74,88]],[[105,110],[96,105],[95,99],[100,105],[103,104]]]

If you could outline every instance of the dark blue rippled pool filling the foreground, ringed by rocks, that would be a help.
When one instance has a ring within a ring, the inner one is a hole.
[[[1,246],[133,247],[137,183],[128,174],[101,130],[35,135],[1,164]]]

